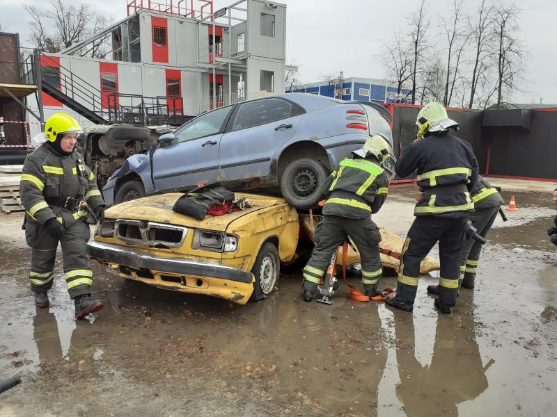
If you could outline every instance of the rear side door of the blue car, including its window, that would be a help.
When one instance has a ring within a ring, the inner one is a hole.
[[[304,108],[269,97],[238,104],[219,148],[220,180],[269,175],[276,150],[296,133]]]

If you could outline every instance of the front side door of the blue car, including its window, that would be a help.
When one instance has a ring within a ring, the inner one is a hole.
[[[152,174],[159,191],[219,180],[219,143],[234,106],[196,117],[174,132],[175,140],[152,156]]]

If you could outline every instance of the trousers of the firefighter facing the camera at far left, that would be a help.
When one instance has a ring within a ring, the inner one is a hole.
[[[79,221],[65,229],[65,234],[60,240],[64,278],[72,300],[79,295],[91,294],[93,271],[88,266],[86,254],[87,240],[90,236],[89,225]],[[31,291],[49,291],[54,279],[58,239],[51,236],[42,224],[33,221],[26,222],[25,239],[31,247]]]

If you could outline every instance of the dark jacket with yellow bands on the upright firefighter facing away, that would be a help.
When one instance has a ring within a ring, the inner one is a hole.
[[[470,191],[478,181],[478,161],[471,145],[448,132],[432,134],[412,143],[398,160],[398,177],[418,170],[418,187],[423,198],[414,215],[461,217],[473,211]]]

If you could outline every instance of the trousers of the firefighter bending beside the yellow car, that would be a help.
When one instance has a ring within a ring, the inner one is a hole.
[[[336,215],[324,215],[315,229],[315,247],[306,268],[304,281],[319,284],[324,275],[331,256],[338,245],[350,236],[361,258],[361,280],[363,284],[373,285],[383,275],[379,242],[381,234],[371,218],[348,219]],[[311,284],[310,284],[311,286]]]

